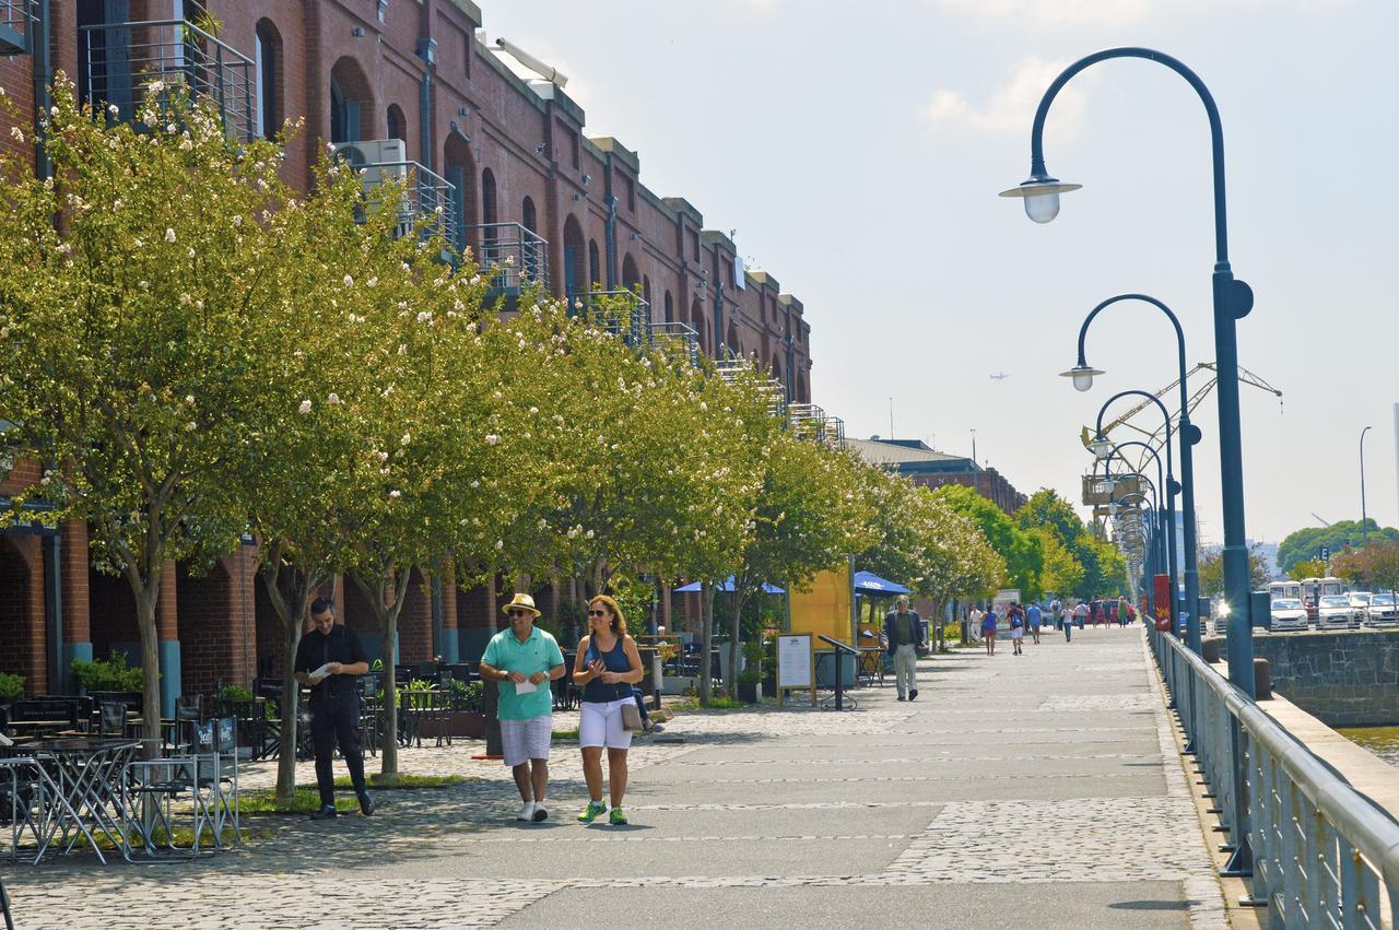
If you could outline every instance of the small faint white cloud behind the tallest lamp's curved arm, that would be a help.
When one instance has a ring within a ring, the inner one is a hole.
[[[1025,134],[1030,131],[1035,106],[1039,105],[1045,88],[1066,64],[1067,62],[1046,62],[1039,57],[1025,59],[982,102],[972,102],[961,91],[940,88],[933,91],[923,106],[923,119],[935,127],[954,126],[981,133]],[[1088,77],[1083,76],[1080,80]],[[1053,137],[1066,138],[1077,133],[1086,105],[1081,90],[1081,84],[1069,85],[1055,98],[1053,117],[1048,127]]]

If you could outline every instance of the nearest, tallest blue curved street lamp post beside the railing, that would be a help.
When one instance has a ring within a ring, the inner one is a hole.
[[[1244,540],[1244,455],[1238,408],[1237,320],[1254,309],[1254,291],[1234,277],[1228,263],[1228,220],[1224,196],[1224,130],[1219,106],[1205,81],[1182,62],[1153,49],[1116,48],[1079,59],[1053,80],[1035,110],[1030,134],[1030,179],[1003,196],[1024,197],[1025,214],[1035,222],[1049,222],[1059,213],[1059,194],[1077,190],[1052,178],[1045,169],[1044,124],[1049,105],[1076,74],[1109,59],[1144,59],[1164,64],[1195,90],[1210,123],[1210,151],[1214,166],[1214,364],[1219,372],[1220,489],[1224,517],[1224,597],[1238,621],[1228,625],[1228,677],[1249,698],[1255,696],[1254,629],[1249,617],[1248,547]],[[1242,622],[1240,622],[1242,621]]]

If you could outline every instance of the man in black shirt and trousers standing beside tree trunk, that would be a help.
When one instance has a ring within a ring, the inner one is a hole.
[[[334,601],[318,597],[311,604],[311,620],[315,628],[302,636],[297,648],[297,681],[311,685],[311,740],[316,747],[316,787],[320,789],[320,810],[311,820],[336,815],[334,775],[330,769],[336,743],[350,769],[360,810],[368,817],[374,813],[374,799],[364,785],[355,675],[369,671],[369,660],[360,636],[344,624],[336,624]]]

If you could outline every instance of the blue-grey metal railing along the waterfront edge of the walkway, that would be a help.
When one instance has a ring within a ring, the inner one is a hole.
[[[1217,796],[1216,808],[1234,847],[1230,874],[1248,878],[1248,903],[1267,909],[1260,923],[1395,926],[1399,821],[1177,636],[1154,629],[1150,636],[1191,741],[1186,751],[1195,754]]]

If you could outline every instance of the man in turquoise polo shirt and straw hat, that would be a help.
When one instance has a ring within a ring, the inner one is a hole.
[[[515,776],[520,810],[515,820],[548,820],[548,747],[554,737],[554,692],[564,677],[564,652],[553,635],[534,625],[539,610],[529,594],[501,608],[511,628],[491,636],[481,654],[481,678],[497,682],[501,747]]]

